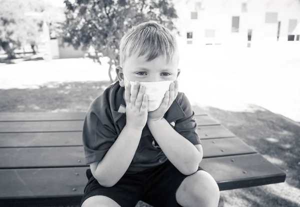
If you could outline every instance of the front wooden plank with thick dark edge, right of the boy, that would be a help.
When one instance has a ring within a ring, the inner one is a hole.
[[[286,176],[259,153],[205,158],[200,166],[213,176],[220,190],[283,182]]]

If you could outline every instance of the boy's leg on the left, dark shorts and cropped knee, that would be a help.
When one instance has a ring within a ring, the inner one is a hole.
[[[88,178],[79,206],[134,207],[144,187],[142,177],[124,174],[111,187],[104,187],[86,171]]]

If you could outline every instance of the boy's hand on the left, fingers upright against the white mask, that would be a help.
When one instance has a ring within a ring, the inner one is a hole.
[[[147,122],[148,99],[145,88],[135,81],[132,93],[131,85],[125,82],[126,125],[142,130]]]

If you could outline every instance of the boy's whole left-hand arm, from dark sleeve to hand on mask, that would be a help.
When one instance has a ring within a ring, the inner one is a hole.
[[[130,84],[125,86],[126,124],[119,134],[110,109],[104,106],[97,113],[88,112],[83,123],[86,163],[94,162],[90,165],[91,172],[105,187],[113,186],[128,169],[147,121],[144,87],[135,84],[131,93],[130,87]]]

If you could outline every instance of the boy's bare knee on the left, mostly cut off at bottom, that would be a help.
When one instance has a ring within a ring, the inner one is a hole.
[[[120,207],[113,199],[104,195],[94,195],[86,198],[81,207]]]

